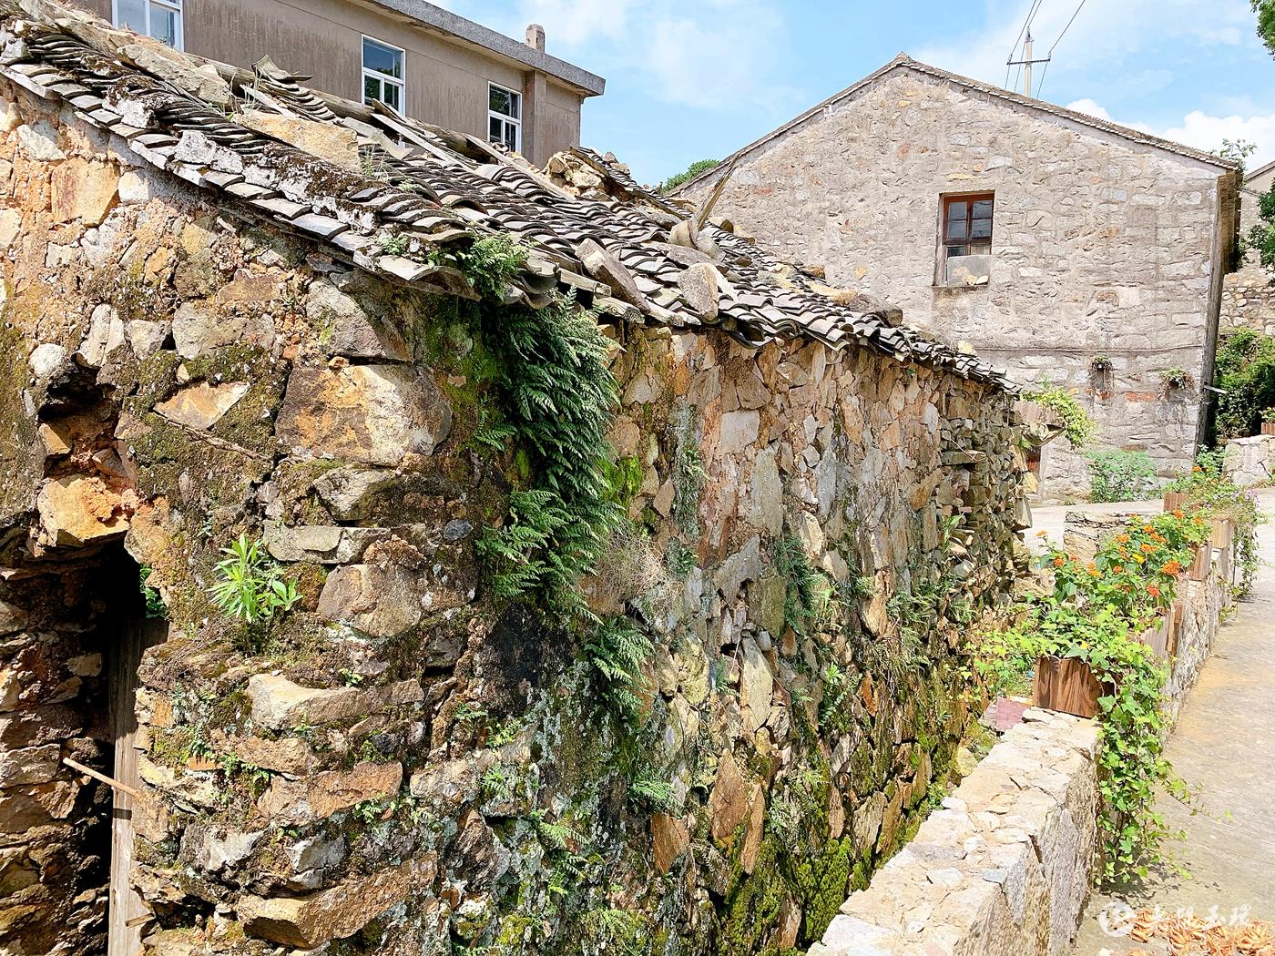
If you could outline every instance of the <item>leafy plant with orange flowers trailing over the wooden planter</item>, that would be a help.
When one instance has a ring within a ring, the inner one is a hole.
[[[1145,874],[1159,859],[1170,832],[1155,811],[1158,790],[1190,795],[1164,757],[1168,669],[1136,635],[1172,604],[1179,572],[1207,534],[1201,511],[1181,511],[1131,520],[1088,563],[1049,548],[1042,565],[1053,574],[1053,591],[1033,598],[1015,627],[986,635],[979,646],[977,667],[992,692],[1021,684],[1040,655],[1084,660],[1104,687],[1104,881]]]

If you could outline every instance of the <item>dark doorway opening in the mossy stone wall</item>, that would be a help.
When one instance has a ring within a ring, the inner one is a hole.
[[[122,892],[131,859],[129,798],[66,761],[135,785],[138,664],[167,625],[145,619],[122,542],[14,557],[0,581],[5,630],[17,625],[0,636],[0,951],[131,956],[136,929],[110,905],[112,874]],[[120,942],[108,946],[113,922]]]

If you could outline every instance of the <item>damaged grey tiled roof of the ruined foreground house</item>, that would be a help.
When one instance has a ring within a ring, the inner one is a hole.
[[[622,321],[714,325],[751,347],[796,337],[831,348],[866,345],[1014,390],[974,356],[899,328],[889,308],[858,311],[819,294],[808,277],[729,232],[705,224],[696,241],[681,224],[683,209],[589,150],[578,156],[625,198],[576,198],[476,136],[316,93],[269,61],[246,71],[176,54],[52,0],[0,0],[0,73],[14,83],[64,101],[84,122],[120,135],[145,162],[218,194],[228,208],[388,279],[473,297],[439,251],[507,233],[532,249],[510,301],[542,307],[556,291],[575,291]],[[362,168],[265,135],[245,111],[352,131]],[[627,269],[638,296],[630,287],[630,301],[621,301],[590,274],[579,251],[586,240]],[[678,246],[688,242],[699,249]],[[680,284],[688,265],[706,261],[704,250],[715,254],[724,278],[715,315],[696,311]]]

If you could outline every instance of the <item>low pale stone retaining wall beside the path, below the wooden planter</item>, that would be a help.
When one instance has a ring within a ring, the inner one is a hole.
[[[1098,848],[1098,728],[1031,709],[810,956],[1066,952]]]

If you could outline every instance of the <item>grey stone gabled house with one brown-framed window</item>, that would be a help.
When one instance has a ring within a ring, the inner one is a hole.
[[[682,187],[834,284],[1019,382],[1081,396],[1099,445],[1168,474],[1204,436],[1235,164],[905,55]],[[1043,493],[1082,493],[1063,442]]]

